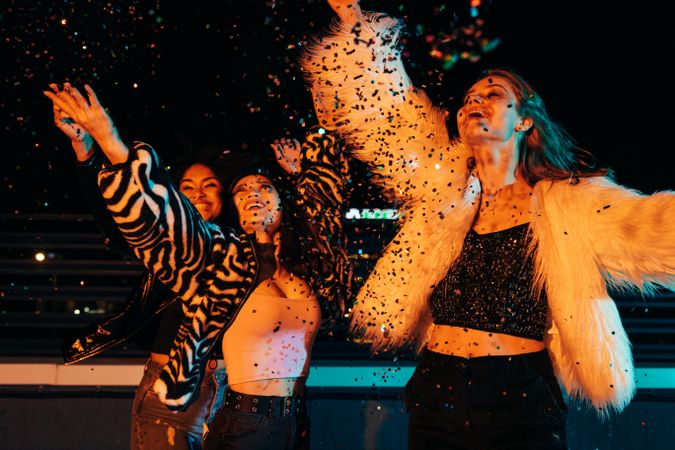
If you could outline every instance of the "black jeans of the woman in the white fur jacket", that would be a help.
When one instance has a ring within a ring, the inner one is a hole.
[[[425,350],[406,385],[409,449],[566,449],[567,407],[546,351]]]

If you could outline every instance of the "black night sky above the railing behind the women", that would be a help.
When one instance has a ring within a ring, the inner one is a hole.
[[[406,18],[409,73],[451,117],[481,69],[509,67],[619,182],[645,192],[675,187],[667,69],[675,39],[658,4],[484,1],[481,37],[496,47],[447,67],[430,52],[453,23],[475,23],[469,3],[362,5]],[[41,94],[48,83],[91,84],[123,139],[149,142],[168,160],[186,139],[267,152],[271,139],[300,136],[315,123],[296,61],[331,17],[318,0],[3,2],[0,213],[87,212],[69,143]],[[440,49],[451,54],[466,45],[455,40]],[[359,195],[352,203],[369,206]]]

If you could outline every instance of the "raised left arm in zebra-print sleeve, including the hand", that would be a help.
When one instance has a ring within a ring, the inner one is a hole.
[[[136,143],[129,150],[90,87],[88,99],[73,86],[64,87],[45,95],[94,138],[112,163],[98,181],[120,232],[159,281],[190,298],[220,231],[178,192],[149,145]]]

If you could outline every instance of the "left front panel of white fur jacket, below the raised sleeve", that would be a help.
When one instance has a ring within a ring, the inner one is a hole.
[[[478,179],[436,189],[427,186],[407,204],[398,233],[358,293],[351,330],[373,351],[403,346],[419,351],[431,325],[428,300],[459,256],[478,207]]]

